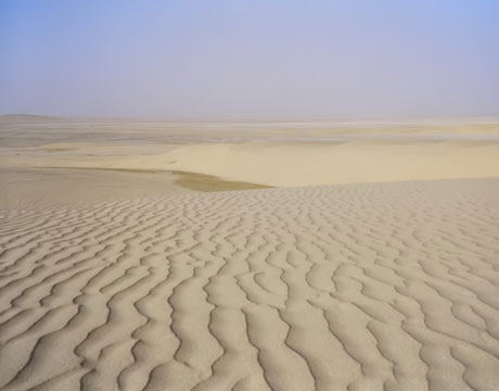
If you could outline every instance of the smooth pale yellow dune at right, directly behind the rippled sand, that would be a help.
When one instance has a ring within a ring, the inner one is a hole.
[[[495,177],[499,176],[499,142],[199,144],[148,159],[131,156],[121,164],[166,167],[276,187]]]

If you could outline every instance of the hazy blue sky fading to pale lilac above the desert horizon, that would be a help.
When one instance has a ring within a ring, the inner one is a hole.
[[[498,0],[1,0],[0,113],[499,115]]]

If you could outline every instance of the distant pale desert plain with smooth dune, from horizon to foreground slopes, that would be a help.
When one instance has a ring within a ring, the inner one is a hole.
[[[496,177],[499,119],[492,119],[385,125],[0,121],[0,162],[25,169],[189,172],[271,187]]]

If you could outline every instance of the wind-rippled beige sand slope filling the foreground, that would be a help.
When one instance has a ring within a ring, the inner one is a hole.
[[[499,179],[1,222],[2,390],[499,389]]]

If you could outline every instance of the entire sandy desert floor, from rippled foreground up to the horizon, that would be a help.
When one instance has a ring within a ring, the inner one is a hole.
[[[3,117],[0,389],[499,390],[497,123]]]

